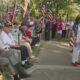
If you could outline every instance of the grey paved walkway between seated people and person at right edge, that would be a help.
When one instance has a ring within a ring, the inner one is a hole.
[[[27,72],[25,80],[80,80],[80,66],[71,65],[70,47],[63,42],[42,42],[39,61]]]

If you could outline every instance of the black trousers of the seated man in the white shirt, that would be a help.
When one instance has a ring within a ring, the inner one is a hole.
[[[26,60],[27,58],[29,58],[29,53],[26,46],[21,45],[20,47],[11,47],[11,48],[21,51],[21,60]]]

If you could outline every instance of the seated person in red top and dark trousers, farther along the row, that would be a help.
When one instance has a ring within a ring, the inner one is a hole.
[[[40,41],[39,37],[32,36],[32,34],[34,33],[31,34],[31,32],[29,31],[30,25],[21,24],[21,26],[22,26],[21,31],[23,34],[23,38],[26,39],[31,44],[31,46],[35,46],[35,44],[37,44]],[[33,32],[34,32],[34,29],[33,29]]]

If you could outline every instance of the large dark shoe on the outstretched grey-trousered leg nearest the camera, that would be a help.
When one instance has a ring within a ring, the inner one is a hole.
[[[15,67],[18,70],[20,78],[27,78],[30,76],[20,64],[16,64]]]

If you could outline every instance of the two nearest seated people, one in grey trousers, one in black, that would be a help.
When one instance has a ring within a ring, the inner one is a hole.
[[[25,68],[28,66],[29,58],[28,50],[26,46],[18,45],[11,34],[11,29],[8,25],[0,21],[0,56],[6,57],[9,60],[9,64],[14,69],[14,80],[20,80],[20,78],[28,77]],[[15,56],[15,49],[21,51],[21,60]],[[24,67],[26,65],[26,67]],[[19,77],[18,77],[19,75]]]

